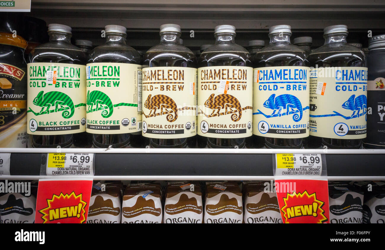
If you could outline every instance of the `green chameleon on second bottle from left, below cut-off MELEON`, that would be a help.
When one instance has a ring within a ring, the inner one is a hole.
[[[112,105],[111,99],[108,97],[108,95],[98,90],[94,90],[92,92],[88,90],[87,105],[87,113],[103,110],[103,118],[110,117],[112,112],[114,112],[114,105]]]

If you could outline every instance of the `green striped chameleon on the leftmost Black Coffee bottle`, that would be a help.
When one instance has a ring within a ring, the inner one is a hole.
[[[63,118],[71,118],[75,113],[74,102],[65,93],[59,91],[50,91],[44,94],[44,91],[40,91],[33,99],[33,104],[42,107],[39,113],[33,112],[31,108],[28,112],[32,112],[35,115],[43,115],[54,112],[62,112]],[[54,106],[55,108],[50,110]]]

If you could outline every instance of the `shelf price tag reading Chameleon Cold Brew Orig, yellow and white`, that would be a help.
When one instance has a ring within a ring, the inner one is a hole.
[[[276,154],[276,176],[321,176],[321,154]]]

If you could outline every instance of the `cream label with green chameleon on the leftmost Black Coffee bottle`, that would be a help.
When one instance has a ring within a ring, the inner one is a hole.
[[[85,66],[28,63],[27,133],[85,131]]]

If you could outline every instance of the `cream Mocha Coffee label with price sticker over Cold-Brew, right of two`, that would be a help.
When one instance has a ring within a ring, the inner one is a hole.
[[[198,68],[198,135],[243,138],[252,135],[253,68]]]

